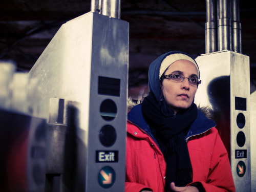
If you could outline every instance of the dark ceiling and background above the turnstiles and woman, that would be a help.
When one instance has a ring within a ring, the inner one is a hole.
[[[147,94],[147,68],[161,54],[205,53],[205,7],[203,0],[121,1],[121,19],[130,24],[130,96]],[[90,9],[88,0],[2,1],[0,59],[11,59],[19,71],[28,72],[60,26]],[[250,56],[252,84],[256,84],[255,12],[254,1],[240,1],[242,53]]]

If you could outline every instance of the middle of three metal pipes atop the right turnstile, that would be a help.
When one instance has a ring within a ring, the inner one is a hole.
[[[218,51],[231,50],[231,6],[229,0],[217,0]]]

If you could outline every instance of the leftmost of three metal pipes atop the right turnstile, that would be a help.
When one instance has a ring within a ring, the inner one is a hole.
[[[216,0],[206,0],[205,52],[217,51]]]

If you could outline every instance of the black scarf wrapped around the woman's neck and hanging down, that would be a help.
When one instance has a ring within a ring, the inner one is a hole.
[[[197,117],[196,104],[175,116],[166,102],[158,103],[151,92],[142,102],[142,112],[166,161],[165,190],[170,191],[171,182],[186,186],[192,182],[193,170],[184,134]]]

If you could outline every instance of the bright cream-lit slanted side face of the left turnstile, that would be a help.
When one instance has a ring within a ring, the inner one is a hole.
[[[81,113],[89,110],[92,19],[88,13],[63,24],[30,70],[29,78],[37,86],[31,90],[33,116],[49,119],[54,97],[81,102]],[[88,118],[80,123],[85,129]]]

